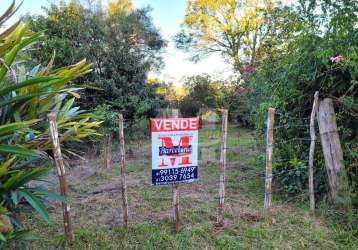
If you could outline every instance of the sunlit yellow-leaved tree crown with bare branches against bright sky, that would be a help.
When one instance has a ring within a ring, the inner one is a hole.
[[[193,59],[221,53],[243,73],[245,65],[258,60],[273,10],[271,0],[188,1],[177,47],[193,52]]]

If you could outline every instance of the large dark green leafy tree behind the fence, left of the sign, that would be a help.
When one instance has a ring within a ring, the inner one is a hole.
[[[82,91],[81,107],[108,105],[133,125],[164,105],[147,74],[161,66],[165,42],[152,23],[150,9],[130,6],[130,1],[111,1],[107,10],[95,3],[62,2],[51,5],[45,15],[28,18],[32,30],[45,30],[46,35],[45,43],[31,52],[35,61],[43,61],[54,50],[58,65],[87,57],[94,70],[80,79],[91,86]]]

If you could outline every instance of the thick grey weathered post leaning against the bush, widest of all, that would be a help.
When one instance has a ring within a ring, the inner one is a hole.
[[[318,109],[318,127],[330,187],[330,198],[335,200],[340,189],[340,172],[344,170],[343,152],[337,133],[336,115],[330,98],[323,99]]]

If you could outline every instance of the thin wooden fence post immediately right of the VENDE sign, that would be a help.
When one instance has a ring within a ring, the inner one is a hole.
[[[220,181],[219,181],[219,207],[216,218],[217,226],[224,226],[224,204],[225,204],[225,169],[226,169],[226,141],[228,111],[223,109],[221,123],[221,149],[220,149]]]

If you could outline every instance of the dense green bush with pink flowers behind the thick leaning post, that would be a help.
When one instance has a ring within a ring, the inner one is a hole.
[[[357,10],[356,1],[299,1],[281,13],[285,22],[276,24],[280,31],[271,39],[272,46],[262,63],[246,76],[250,117],[263,131],[269,106],[277,108],[275,130],[276,171],[293,171],[278,177],[288,193],[307,186],[309,143],[308,118],[313,95],[334,99],[339,134],[344,149],[352,198],[358,193],[357,157]],[[295,30],[295,32],[292,32]],[[278,45],[280,44],[280,45]],[[255,115],[254,115],[255,114]],[[318,148],[320,148],[318,146]],[[318,195],[325,193],[324,163],[320,150],[315,157]],[[297,164],[291,164],[298,159]],[[301,166],[301,167],[297,167]]]

